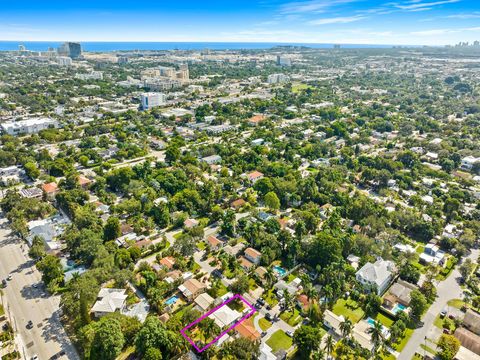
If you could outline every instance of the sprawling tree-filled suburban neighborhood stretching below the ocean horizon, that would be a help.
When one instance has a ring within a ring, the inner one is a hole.
[[[480,359],[479,55],[0,52],[0,356]]]

